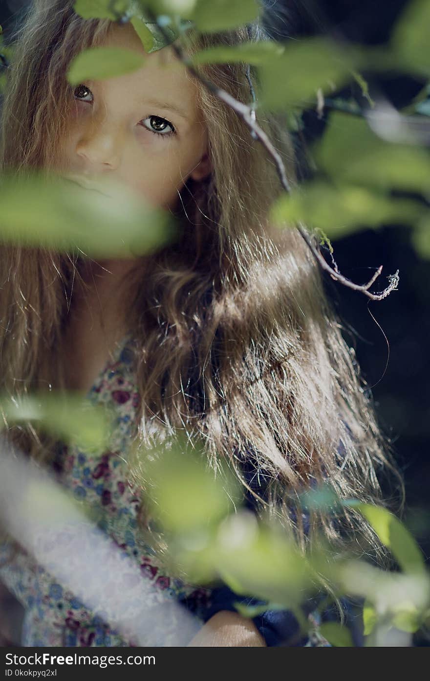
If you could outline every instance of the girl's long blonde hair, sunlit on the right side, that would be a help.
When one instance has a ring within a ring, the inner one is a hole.
[[[83,20],[72,5],[36,0],[14,37],[1,116],[3,170],[52,168],[72,99],[67,67],[112,28],[110,20]],[[259,22],[188,35],[188,54],[268,38]],[[249,103],[244,63],[201,65],[199,72]],[[254,67],[250,75],[257,80]],[[269,221],[268,208],[283,191],[274,161],[229,106],[198,82],[197,93],[212,173],[200,183],[188,180],[180,192],[180,239],[152,254],[144,268],[137,259],[125,282],[142,396],[137,441],[152,445],[146,423],[153,415],[169,432],[186,429],[214,470],[227,460],[249,489],[243,471],[252,462],[269,479],[264,495],[250,490],[257,513],[268,509],[303,549],[317,533],[338,545],[357,535],[382,560],[375,533],[352,508],[342,518],[316,509],[310,532],[303,528],[298,493],[312,484],[328,480],[340,498],[388,505],[378,475],[397,475],[395,492],[403,491],[401,476],[318,264],[294,225],[280,230]],[[284,117],[257,109],[257,122],[294,186]],[[82,257],[66,253],[1,246],[3,391],[63,389],[61,343],[72,283],[83,266]],[[29,456],[52,460],[54,438],[31,423],[10,427],[7,437]],[[144,486],[143,476],[139,460],[130,460],[131,479]],[[143,528],[147,522],[143,513]]]

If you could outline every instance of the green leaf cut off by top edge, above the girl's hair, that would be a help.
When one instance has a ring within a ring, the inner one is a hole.
[[[257,0],[197,0],[190,18],[199,31],[215,33],[251,23],[260,12]]]

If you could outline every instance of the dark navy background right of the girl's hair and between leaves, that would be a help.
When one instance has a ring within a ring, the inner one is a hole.
[[[28,0],[0,0],[0,24],[5,35],[19,20]],[[273,37],[331,34],[363,44],[383,44],[393,22],[408,0],[284,0],[272,5],[266,18]],[[380,91],[397,108],[406,106],[423,82],[391,74],[372,76],[369,86]],[[297,138],[301,176],[308,175],[305,149],[325,129],[329,112],[318,120],[316,112],[303,115],[305,128]],[[371,388],[384,432],[393,441],[397,462],[406,481],[405,521],[430,556],[430,262],[420,259],[410,244],[410,229],[384,225],[333,241],[334,257],[342,274],[365,283],[381,264],[382,276],[372,291],[388,285],[386,276],[399,269],[399,287],[382,301],[371,301],[356,291],[334,283],[325,274],[327,293],[344,326],[346,340],[354,345],[363,377]],[[10,636],[19,626],[19,611],[12,608]],[[13,624],[15,618],[15,624]],[[7,634],[7,632],[5,632]],[[0,636],[1,637],[1,636]],[[426,645],[424,641],[418,645]],[[428,645],[428,644],[427,644]]]

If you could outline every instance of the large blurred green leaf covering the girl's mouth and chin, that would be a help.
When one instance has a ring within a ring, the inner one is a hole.
[[[142,255],[174,235],[166,211],[149,208],[127,187],[100,178],[108,195],[56,174],[4,174],[0,181],[0,242],[99,257]],[[89,227],[90,226],[90,227]]]

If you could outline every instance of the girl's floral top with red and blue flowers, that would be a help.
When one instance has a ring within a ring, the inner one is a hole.
[[[114,539],[119,553],[124,552],[137,561],[142,580],[150,580],[154,586],[151,590],[153,604],[176,599],[203,626],[222,609],[235,611],[234,601],[251,605],[264,603],[257,599],[244,599],[227,586],[196,588],[172,578],[158,563],[154,550],[142,541],[136,518],[139,499],[126,480],[127,465],[123,458],[135,427],[135,413],[139,405],[133,339],[130,334],[117,344],[113,356],[114,361],[108,362],[86,396],[94,404],[109,403],[114,406],[110,451],[93,455],[81,451],[77,446],[61,445],[54,462],[59,480],[73,491],[76,499],[86,500],[103,510],[102,520],[97,524]],[[148,424],[148,427],[152,428],[153,425]],[[38,565],[29,553],[22,550],[10,565],[3,565],[10,548],[7,542],[0,546],[0,578],[25,609],[22,646],[135,645],[135,642],[124,639],[111,627],[108,619],[90,612],[73,593],[63,588],[46,569]],[[132,586],[127,584],[131,591]],[[142,605],[137,604],[135,607]],[[315,617],[315,614],[307,614],[310,618]],[[329,646],[318,633],[305,639],[297,638],[299,626],[288,610],[267,610],[252,619],[267,646]],[[318,621],[312,621],[318,624]],[[171,645],[174,624],[171,622],[171,631],[165,625],[158,629],[156,626],[151,627],[143,645]]]

